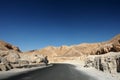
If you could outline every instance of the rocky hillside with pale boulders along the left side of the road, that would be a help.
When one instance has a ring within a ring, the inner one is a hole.
[[[0,41],[0,71],[41,64],[44,56],[40,54],[24,54],[16,46]]]

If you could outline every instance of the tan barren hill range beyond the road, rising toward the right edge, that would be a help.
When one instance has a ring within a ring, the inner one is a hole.
[[[83,55],[100,55],[108,52],[120,51],[120,34],[100,43],[83,43],[73,46],[53,47],[49,46],[40,50],[28,51],[25,53],[43,54],[47,55],[50,59],[56,57],[80,57]]]

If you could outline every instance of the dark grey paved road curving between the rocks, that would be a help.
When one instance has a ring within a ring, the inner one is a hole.
[[[83,74],[70,64],[54,64],[52,67],[38,69],[5,80],[95,80]]]

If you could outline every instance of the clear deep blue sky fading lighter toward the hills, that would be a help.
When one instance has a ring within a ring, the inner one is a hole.
[[[0,39],[22,51],[101,42],[119,33],[119,0],[0,0]]]

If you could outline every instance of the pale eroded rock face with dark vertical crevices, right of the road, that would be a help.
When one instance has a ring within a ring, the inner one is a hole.
[[[120,52],[88,56],[85,61],[85,67],[95,67],[98,70],[109,73],[120,72]]]

